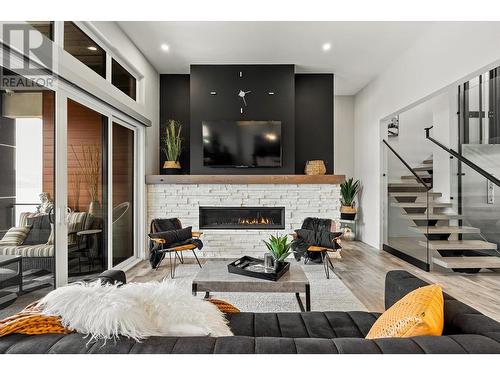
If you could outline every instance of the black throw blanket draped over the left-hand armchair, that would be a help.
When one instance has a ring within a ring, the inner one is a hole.
[[[160,235],[162,232],[165,232],[165,236]],[[201,242],[201,240],[197,238],[181,238],[179,242],[172,242],[175,241],[175,239],[179,239],[179,235],[182,235],[182,232],[183,229],[181,222],[177,218],[153,219],[151,221],[149,236],[151,238],[162,238],[166,241],[163,246],[161,244],[150,241],[149,263],[151,264],[152,268],[156,268],[163,260],[163,258],[165,258],[165,252],[162,251],[162,249],[168,249],[182,245],[195,245],[199,250],[203,248],[203,242]],[[189,228],[189,232],[191,232],[191,228]]]

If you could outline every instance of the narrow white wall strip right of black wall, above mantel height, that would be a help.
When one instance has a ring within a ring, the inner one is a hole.
[[[354,175],[354,96],[336,95],[334,104],[333,169]]]

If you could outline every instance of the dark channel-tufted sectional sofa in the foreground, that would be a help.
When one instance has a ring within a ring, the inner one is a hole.
[[[108,271],[103,279],[125,281],[121,271]],[[386,276],[386,308],[408,292],[427,285],[406,271]],[[333,293],[333,292],[332,292]],[[410,354],[499,353],[500,323],[445,295],[443,336],[366,340],[380,313],[293,312],[229,315],[232,337],[151,337],[143,342],[126,338],[88,344],[81,334],[20,334],[0,338],[0,353],[258,353],[258,354]]]

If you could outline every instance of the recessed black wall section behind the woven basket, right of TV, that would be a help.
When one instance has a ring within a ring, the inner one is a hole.
[[[307,160],[325,161],[333,173],[333,74],[295,75],[295,173]]]

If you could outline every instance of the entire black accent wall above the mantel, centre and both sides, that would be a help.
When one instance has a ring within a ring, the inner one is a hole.
[[[192,65],[191,75],[162,74],[160,134],[168,119],[182,122],[182,172],[303,174],[307,160],[322,159],[327,173],[333,173],[333,74],[295,74],[294,70],[294,65]],[[246,97],[247,107],[238,97],[240,89],[252,91]],[[282,167],[204,167],[203,120],[281,121]],[[160,153],[160,174],[164,161]]]

